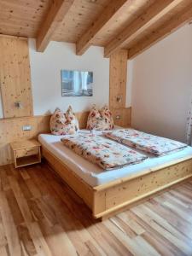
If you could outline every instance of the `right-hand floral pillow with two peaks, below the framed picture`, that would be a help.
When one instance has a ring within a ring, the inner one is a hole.
[[[103,107],[101,112],[94,105],[87,119],[88,130],[111,130],[113,129],[113,117],[108,107]]]

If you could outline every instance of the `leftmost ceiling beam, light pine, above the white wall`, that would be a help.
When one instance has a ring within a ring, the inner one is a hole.
[[[37,50],[43,52],[46,49],[55,29],[61,25],[65,15],[71,8],[74,0],[54,0],[49,8],[43,24],[38,32]]]

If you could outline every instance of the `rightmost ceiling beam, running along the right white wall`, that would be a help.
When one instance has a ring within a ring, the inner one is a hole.
[[[133,45],[133,47],[129,49],[128,58],[132,59],[141,54],[144,50],[150,48],[163,38],[166,38],[166,36],[170,35],[190,20],[192,20],[192,4],[183,9],[177,15],[173,15],[170,20],[167,20],[166,23],[159,26],[158,29],[150,32],[150,34],[143,38],[141,42]]]

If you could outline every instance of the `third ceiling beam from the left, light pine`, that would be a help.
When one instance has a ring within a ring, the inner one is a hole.
[[[127,24],[125,30],[105,47],[104,55],[109,57],[116,50],[123,48],[125,44],[129,44],[133,39],[137,38],[144,30],[153,25],[157,20],[160,20],[164,15],[177,6],[183,0],[160,0],[155,1],[144,13],[131,24]]]

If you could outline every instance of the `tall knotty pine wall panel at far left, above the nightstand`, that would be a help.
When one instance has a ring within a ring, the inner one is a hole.
[[[32,88],[26,38],[0,36],[0,86],[4,118],[31,116]],[[22,108],[16,108],[21,102]]]

